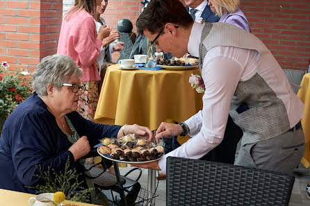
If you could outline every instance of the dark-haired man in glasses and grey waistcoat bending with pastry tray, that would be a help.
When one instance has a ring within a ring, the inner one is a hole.
[[[136,27],[158,50],[199,56],[205,89],[201,111],[179,124],[161,123],[156,131],[157,140],[192,138],[161,160],[137,166],[165,172],[168,156],[199,159],[220,144],[230,114],[243,130],[234,164],[295,169],[304,154],[304,105],[261,40],[231,24],[193,22],[179,0],[152,0]]]

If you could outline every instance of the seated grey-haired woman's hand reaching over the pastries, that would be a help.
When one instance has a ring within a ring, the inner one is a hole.
[[[117,133],[117,138],[124,136],[123,132],[125,135],[133,133],[138,138],[147,139],[147,141],[153,141],[154,139],[154,134],[151,130],[149,130],[149,128],[139,126],[136,123],[133,125],[122,126],[122,128],[120,128],[120,131]]]

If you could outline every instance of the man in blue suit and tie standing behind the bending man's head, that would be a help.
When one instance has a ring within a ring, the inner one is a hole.
[[[186,10],[190,13],[193,19],[202,17],[206,22],[218,22],[220,17],[215,16],[208,5],[207,0],[185,0]]]

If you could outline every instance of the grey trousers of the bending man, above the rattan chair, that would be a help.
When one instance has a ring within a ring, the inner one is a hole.
[[[272,139],[241,146],[234,164],[292,173],[300,163],[302,155],[304,133],[300,128]]]

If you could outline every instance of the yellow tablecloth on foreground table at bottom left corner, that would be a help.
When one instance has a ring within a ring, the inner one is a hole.
[[[28,200],[31,197],[35,197],[33,194],[27,194],[18,191],[10,191],[6,189],[0,189],[0,205],[1,206],[28,206],[30,205]],[[78,203],[69,200],[63,201],[63,205],[79,205],[79,206],[95,206],[87,203]]]

